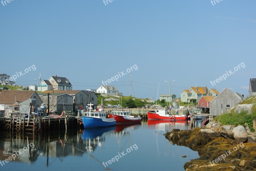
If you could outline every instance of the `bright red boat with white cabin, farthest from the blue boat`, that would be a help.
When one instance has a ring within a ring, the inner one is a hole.
[[[155,112],[148,111],[148,120],[187,120],[186,114],[170,115],[166,109],[156,109]]]

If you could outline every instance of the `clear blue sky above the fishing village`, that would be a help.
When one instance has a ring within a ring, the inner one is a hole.
[[[154,100],[174,80],[177,97],[192,86],[248,96],[255,7],[255,0],[1,1],[0,73],[18,74],[23,86],[38,84],[40,72],[44,80],[58,75],[74,90],[106,81],[124,96],[132,74],[132,96]]]

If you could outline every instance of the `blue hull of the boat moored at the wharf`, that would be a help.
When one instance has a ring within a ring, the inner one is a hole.
[[[84,128],[100,128],[100,127],[110,127],[116,125],[116,120],[108,122],[103,121],[100,118],[93,118],[93,117],[81,117]]]

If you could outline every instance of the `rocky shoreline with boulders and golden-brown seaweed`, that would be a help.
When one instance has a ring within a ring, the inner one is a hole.
[[[256,169],[256,133],[248,126],[221,126],[212,121],[194,130],[173,129],[164,136],[172,144],[198,151],[200,158],[185,163],[186,171]]]

